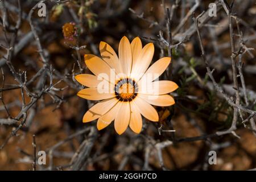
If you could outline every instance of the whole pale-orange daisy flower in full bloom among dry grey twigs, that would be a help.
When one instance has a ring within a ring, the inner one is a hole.
[[[99,100],[86,111],[82,121],[97,121],[98,130],[114,121],[115,131],[121,135],[128,126],[135,133],[142,129],[142,115],[159,121],[158,112],[152,106],[175,104],[168,93],[178,88],[173,81],[158,81],[166,70],[171,57],[163,57],[150,66],[154,44],[142,47],[138,37],[130,43],[123,36],[119,43],[118,56],[105,42],[100,43],[101,57],[85,55],[85,64],[94,74],[77,75],[76,80],[88,88],[77,95],[87,100]],[[149,68],[148,68],[149,67]]]

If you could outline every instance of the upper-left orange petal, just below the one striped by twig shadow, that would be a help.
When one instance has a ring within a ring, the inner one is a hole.
[[[84,55],[84,59],[86,66],[94,75],[114,83],[115,72],[104,60],[100,59],[100,57],[90,54]]]

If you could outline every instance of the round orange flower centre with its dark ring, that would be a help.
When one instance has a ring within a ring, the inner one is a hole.
[[[121,79],[115,84],[115,95],[121,101],[131,101],[136,97],[137,84],[131,78]]]

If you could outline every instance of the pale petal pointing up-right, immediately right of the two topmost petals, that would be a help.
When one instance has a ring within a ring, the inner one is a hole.
[[[134,64],[131,76],[138,81],[149,67],[154,56],[154,44],[148,43],[139,54],[138,61]]]

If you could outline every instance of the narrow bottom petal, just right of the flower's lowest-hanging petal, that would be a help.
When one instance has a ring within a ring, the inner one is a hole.
[[[134,102],[130,102],[131,106],[131,118],[129,126],[131,130],[133,130],[135,133],[140,133],[142,129],[142,117],[141,113],[139,113],[139,110],[137,106],[134,104]]]

